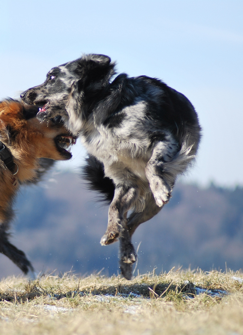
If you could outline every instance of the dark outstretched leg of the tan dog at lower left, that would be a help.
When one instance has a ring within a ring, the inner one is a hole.
[[[34,275],[34,269],[25,256],[24,252],[17,249],[8,241],[8,233],[0,228],[0,253],[7,256],[14,264],[16,264],[20,270],[25,274],[30,274],[31,277]]]

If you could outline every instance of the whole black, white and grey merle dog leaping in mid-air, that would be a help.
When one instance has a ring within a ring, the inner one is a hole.
[[[102,245],[120,241],[120,269],[131,279],[137,256],[131,236],[169,201],[178,175],[195,157],[200,126],[189,100],[158,79],[118,75],[104,55],[54,67],[20,96],[44,106],[39,120],[61,116],[90,158],[91,188],[111,200]],[[132,214],[127,218],[129,210]]]

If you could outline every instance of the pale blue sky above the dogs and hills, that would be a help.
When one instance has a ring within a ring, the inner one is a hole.
[[[13,0],[0,13],[0,98],[83,53],[108,55],[118,73],[160,78],[194,105],[203,140],[186,182],[243,186],[242,1]],[[85,152],[73,153],[59,166],[79,166]]]

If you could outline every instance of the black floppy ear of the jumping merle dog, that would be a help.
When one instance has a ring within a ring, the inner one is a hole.
[[[81,57],[77,61],[76,73],[82,80],[82,85],[89,85],[93,82],[108,82],[115,74],[115,63],[105,55],[90,54]]]

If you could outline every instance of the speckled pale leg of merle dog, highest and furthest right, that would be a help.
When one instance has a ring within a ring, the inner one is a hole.
[[[146,165],[146,176],[157,206],[162,207],[171,196],[178,172],[173,169],[174,156],[178,152],[177,143],[168,136],[167,140],[156,143]]]

